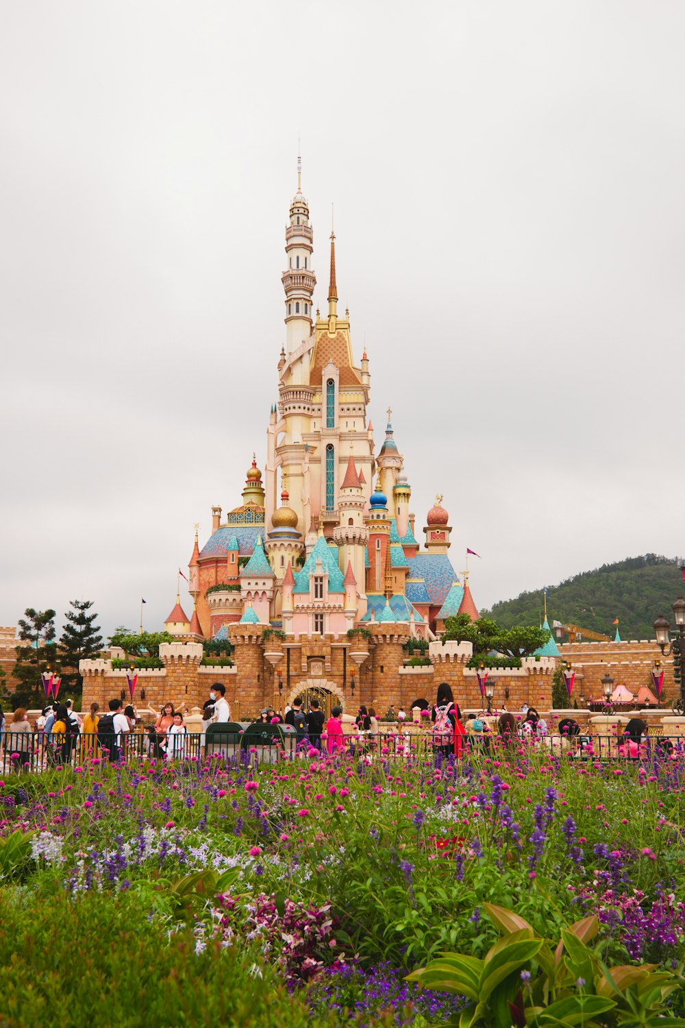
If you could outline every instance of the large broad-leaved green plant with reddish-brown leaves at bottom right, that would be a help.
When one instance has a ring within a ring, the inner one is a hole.
[[[443,953],[408,976],[426,988],[465,996],[460,1028],[685,1026],[685,1020],[668,1016],[669,996],[685,980],[655,964],[609,968],[586,945],[599,931],[594,915],[562,927],[553,949],[520,915],[492,904],[485,909],[503,938],[484,959]]]

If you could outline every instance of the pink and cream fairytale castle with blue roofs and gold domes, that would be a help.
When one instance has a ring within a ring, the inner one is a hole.
[[[196,531],[193,611],[188,617],[177,596],[165,621],[176,641],[160,648],[163,668],[141,671],[141,699],[192,706],[221,681],[234,717],[280,708],[298,694],[305,702],[316,695],[327,710],[333,702],[366,703],[380,713],[432,701],[445,681],[462,705],[480,706],[465,650],[436,639],[450,615],[478,617],[468,573],[460,579],[449,557],[449,514],[437,497],[421,549],[390,409],[376,452],[369,359],[365,351],[355,364],[349,311],[338,313],[335,234],[325,317],[314,310],[312,254],[298,158],[281,276],[286,340],[264,470],[253,455],[241,503],[225,518],[221,507],[212,509],[212,536],[201,548]],[[200,663],[206,639],[230,642],[230,661]],[[428,655],[412,661],[419,645],[412,640],[420,639]],[[496,702],[548,706],[554,651],[498,670]],[[81,670],[84,706],[118,695],[125,681],[110,661],[85,661]]]

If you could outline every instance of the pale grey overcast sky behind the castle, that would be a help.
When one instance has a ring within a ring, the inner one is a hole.
[[[5,0],[0,624],[159,628],[264,467],[298,134],[477,603],[682,553],[684,52],[654,0]]]

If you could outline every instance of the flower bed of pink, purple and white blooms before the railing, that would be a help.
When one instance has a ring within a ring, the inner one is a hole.
[[[128,767],[94,758],[5,776],[3,924],[10,915],[22,935],[39,911],[51,923],[68,905],[84,952],[102,952],[103,938],[116,951],[125,910],[157,939],[160,966],[176,948],[192,977],[211,952],[238,991],[254,990],[255,975],[288,990],[282,1023],[303,1025],[453,1017],[460,999],[419,993],[405,976],[442,951],[484,957],[497,939],[487,904],[545,937],[596,914],[614,962],[670,967],[685,956],[680,760],[579,762],[525,743],[457,762],[330,760],[312,748],[254,766],[255,756]],[[26,978],[12,965],[0,1013],[41,972],[48,950],[36,952]]]

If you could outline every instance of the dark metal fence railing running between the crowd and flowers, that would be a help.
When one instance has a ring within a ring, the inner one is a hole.
[[[561,737],[512,737],[497,735],[454,734],[433,739],[429,734],[414,735],[398,731],[334,736],[335,744],[326,736],[302,738],[293,730],[269,726],[269,732],[259,726],[246,729],[213,726],[206,733],[158,736],[154,733],[123,733],[119,735],[50,734],[43,732],[12,732],[11,725],[0,741],[0,770],[9,772],[42,772],[56,767],[76,767],[97,760],[103,763],[138,764],[143,760],[157,761],[204,760],[243,756],[253,762],[275,763],[307,756],[311,747],[330,752],[354,754],[359,757],[383,759],[461,759],[465,756],[501,754],[513,757],[522,751],[540,756],[565,757],[581,761],[654,761],[671,760],[685,763],[685,737],[657,736],[641,740],[620,739],[615,735],[578,735]]]

